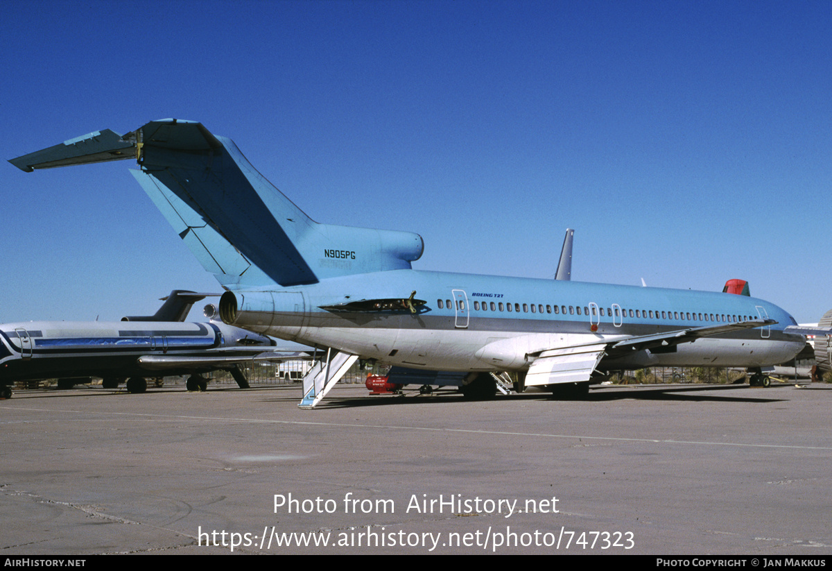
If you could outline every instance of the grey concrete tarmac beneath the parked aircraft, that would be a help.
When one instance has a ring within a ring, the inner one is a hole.
[[[2,553],[832,554],[832,385],[299,400],[18,391]]]

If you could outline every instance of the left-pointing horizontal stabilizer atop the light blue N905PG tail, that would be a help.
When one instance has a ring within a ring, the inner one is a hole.
[[[9,162],[22,171],[32,172],[35,169],[56,166],[122,161],[136,157],[136,153],[131,151],[132,146],[132,142],[123,141],[118,133],[105,129],[70,139],[42,151],[18,156]]]

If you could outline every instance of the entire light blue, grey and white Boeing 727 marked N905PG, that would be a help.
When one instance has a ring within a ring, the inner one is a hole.
[[[745,367],[753,380],[805,345],[791,315],[746,295],[415,271],[421,236],[313,221],[198,122],[93,132],[11,162],[32,171],[128,158],[225,287],[226,324],[325,348],[305,377],[305,408],[359,358],[478,398],[509,372],[579,394],[607,371],[646,366]]]

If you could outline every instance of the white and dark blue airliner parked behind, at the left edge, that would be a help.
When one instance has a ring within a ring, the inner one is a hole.
[[[0,397],[16,381],[58,379],[59,388],[102,377],[105,389],[126,380],[143,393],[148,377],[191,375],[188,390],[206,390],[200,373],[228,370],[248,388],[238,365],[251,360],[285,360],[275,340],[221,322],[183,323],[191,305],[206,297],[173,290],[156,315],[121,321],[24,321],[0,325]],[[210,305],[209,305],[210,307]],[[210,316],[210,315],[209,315]]]

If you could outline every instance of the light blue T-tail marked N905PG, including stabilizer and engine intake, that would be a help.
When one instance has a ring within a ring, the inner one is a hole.
[[[32,171],[129,158],[186,246],[230,289],[409,269],[422,256],[422,237],[412,232],[313,221],[233,141],[198,122],[163,119],[124,136],[93,132],[10,162]]]

